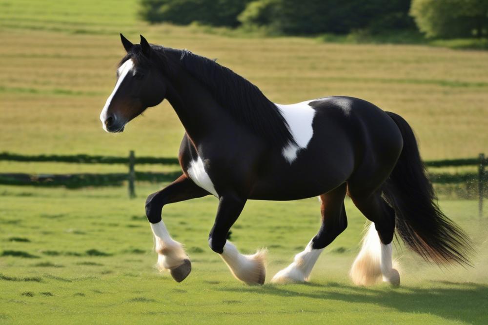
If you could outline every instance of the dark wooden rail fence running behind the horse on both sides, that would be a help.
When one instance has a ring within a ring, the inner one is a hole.
[[[128,183],[128,193],[130,198],[134,198],[135,181],[172,181],[179,176],[179,173],[151,173],[151,172],[136,172],[136,164],[178,164],[177,158],[165,157],[136,157],[134,151],[130,151],[127,157],[111,157],[111,156],[89,156],[89,155],[18,155],[12,153],[0,153],[0,161],[15,161],[15,162],[55,162],[55,163],[87,163],[87,164],[125,164],[128,166],[128,174],[112,173],[112,174],[70,174],[70,175],[28,175],[28,174],[12,174],[0,173],[0,184],[38,184],[38,185],[65,185],[67,187],[79,186],[104,186],[104,185],[121,185],[123,181]],[[479,216],[483,216],[483,199],[485,196],[485,166],[488,164],[488,159],[484,154],[479,154],[477,158],[467,159],[449,159],[427,161],[425,165],[430,168],[440,167],[459,167],[459,166],[477,166],[478,172],[476,174],[448,174],[448,173],[433,173],[431,180],[433,183],[463,183],[477,178],[478,181],[478,212]],[[78,185],[78,186],[77,186]]]

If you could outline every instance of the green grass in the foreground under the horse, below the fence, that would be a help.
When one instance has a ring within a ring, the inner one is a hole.
[[[303,249],[319,227],[316,198],[248,202],[232,229],[244,253],[268,247],[267,282],[237,282],[206,244],[217,200],[205,197],[164,208],[172,234],[186,245],[193,270],[181,284],[155,268],[145,196],[157,186],[125,190],[0,190],[0,317],[49,323],[364,323],[486,324],[487,219],[475,201],[442,202],[480,250],[475,268],[439,270],[397,247],[402,285],[356,287],[347,271],[358,250],[363,216],[346,201],[349,226],[319,259],[309,284],[269,279]],[[12,240],[17,238],[21,240]],[[485,244],[484,244],[485,243]],[[32,258],[35,256],[35,258]]]

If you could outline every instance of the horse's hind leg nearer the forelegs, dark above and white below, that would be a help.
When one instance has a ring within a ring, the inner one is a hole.
[[[344,198],[346,183],[320,196],[322,225],[305,250],[295,255],[292,264],[279,271],[271,280],[274,283],[305,282],[310,278],[312,268],[325,246],[347,227]]]

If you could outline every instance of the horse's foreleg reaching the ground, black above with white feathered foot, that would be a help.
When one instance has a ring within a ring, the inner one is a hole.
[[[220,198],[215,223],[210,231],[208,244],[219,253],[232,274],[246,284],[264,284],[266,276],[265,250],[258,250],[253,255],[241,254],[236,246],[227,241],[227,234],[235,223],[246,200],[227,195]]]

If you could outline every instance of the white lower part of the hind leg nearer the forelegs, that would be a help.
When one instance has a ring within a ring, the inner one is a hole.
[[[276,273],[273,279],[271,279],[271,282],[290,283],[308,281],[310,279],[312,268],[323,250],[324,248],[313,249],[312,241],[310,241],[303,252],[295,255],[293,263]]]

